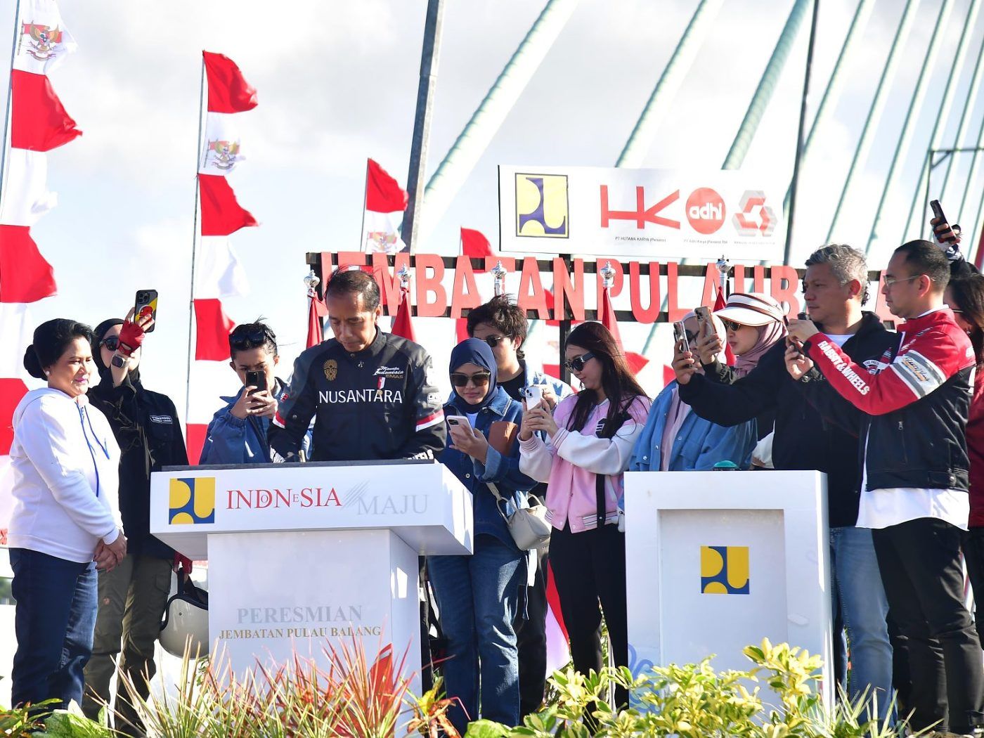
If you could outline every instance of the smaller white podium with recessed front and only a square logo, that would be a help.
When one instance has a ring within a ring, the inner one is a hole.
[[[826,474],[628,472],[625,508],[634,673],[711,654],[746,670],[769,638],[821,655],[830,685]]]

